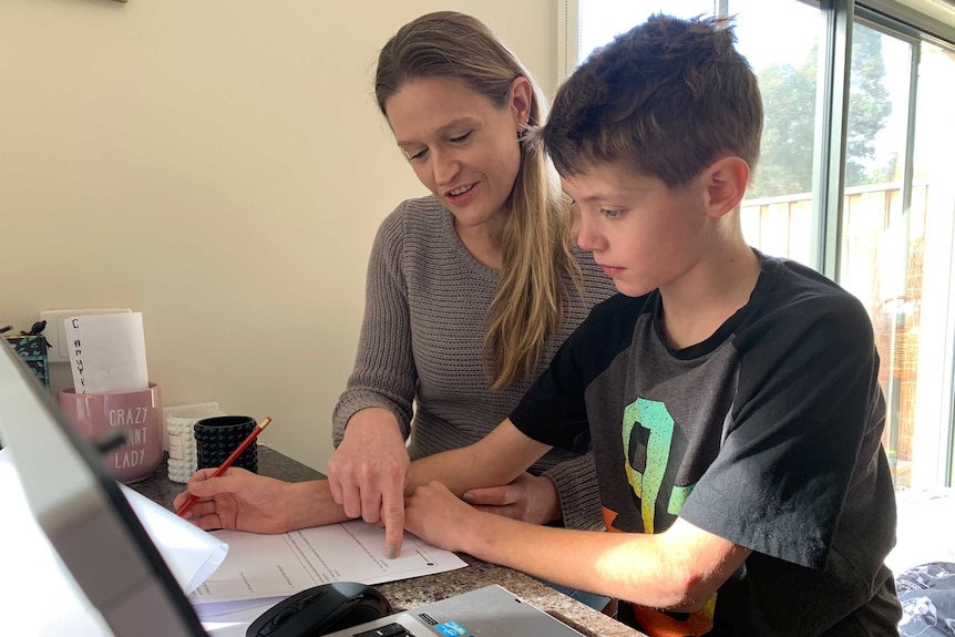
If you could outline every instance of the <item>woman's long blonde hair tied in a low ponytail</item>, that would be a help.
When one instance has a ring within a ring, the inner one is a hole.
[[[480,20],[454,11],[428,13],[399,29],[378,56],[374,93],[386,102],[419,78],[459,80],[504,109],[515,79],[533,86],[528,126],[542,123],[545,104],[533,76]],[[492,389],[531,379],[544,340],[563,320],[579,268],[571,254],[569,208],[540,144],[521,141],[521,167],[504,228],[503,268],[487,311],[484,359]]]

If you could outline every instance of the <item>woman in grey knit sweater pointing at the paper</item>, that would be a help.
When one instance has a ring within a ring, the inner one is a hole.
[[[381,50],[376,96],[432,195],[399,205],[376,238],[328,474],[348,515],[383,520],[393,554],[409,456],[486,435],[615,288],[571,247],[567,202],[543,152],[523,143],[543,100],[486,25],[450,11],[405,24]],[[589,454],[548,453],[514,483],[465,500],[528,522],[603,527]]]

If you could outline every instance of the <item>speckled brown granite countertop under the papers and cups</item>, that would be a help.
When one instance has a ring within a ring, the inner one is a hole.
[[[258,445],[257,453],[258,472],[263,475],[290,482],[325,477],[318,471],[263,444]],[[165,462],[160,464],[152,476],[129,486],[171,511],[173,510],[173,499],[185,489],[184,484],[168,480]],[[377,584],[374,587],[381,590],[396,610],[407,610],[482,586],[499,584],[587,637],[646,637],[643,633],[567,597],[524,573],[490,564],[471,555],[459,554],[459,556],[468,563],[468,567],[424,577]]]

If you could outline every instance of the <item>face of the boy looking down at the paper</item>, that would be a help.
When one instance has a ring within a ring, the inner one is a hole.
[[[589,165],[561,179],[579,207],[577,245],[627,296],[667,287],[706,254],[711,219],[704,177],[678,189],[623,163]]]

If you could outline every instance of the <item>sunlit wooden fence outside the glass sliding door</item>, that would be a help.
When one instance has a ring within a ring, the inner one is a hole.
[[[927,184],[914,185],[906,219],[901,184],[876,184],[846,189],[843,208],[841,282],[867,308],[875,331],[889,410],[883,442],[896,487],[908,486],[912,462],[927,201]],[[810,193],[745,201],[741,219],[750,245],[810,264]]]

